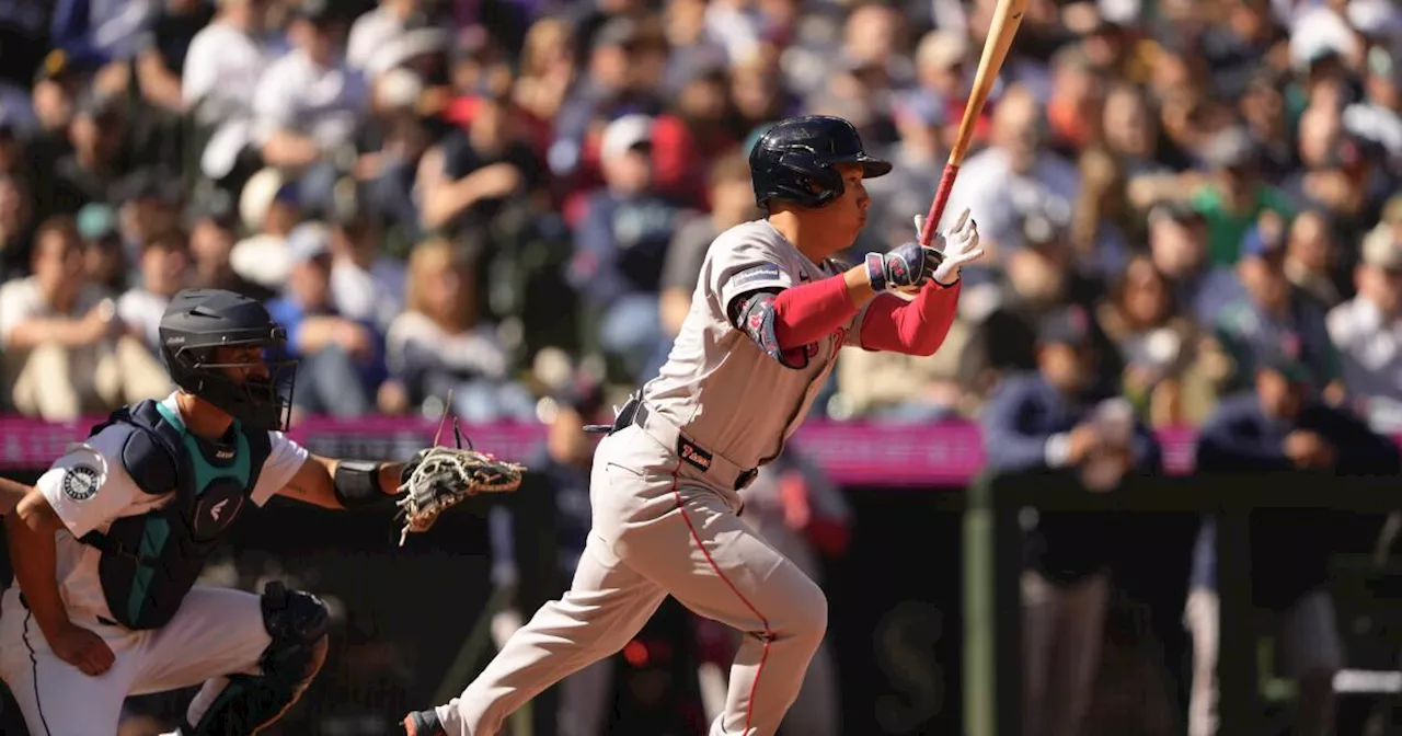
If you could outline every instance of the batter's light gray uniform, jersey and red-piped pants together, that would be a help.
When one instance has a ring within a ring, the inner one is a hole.
[[[596,451],[593,529],[572,587],[547,603],[437,716],[454,736],[502,721],[568,674],[621,649],[663,597],[744,634],[712,736],[773,736],[827,629],[827,600],[737,516],[754,468],[798,429],[848,324],[787,367],[730,322],[730,304],[838,273],[768,222],[722,233],[707,254],[676,345],[641,391],[635,419]]]

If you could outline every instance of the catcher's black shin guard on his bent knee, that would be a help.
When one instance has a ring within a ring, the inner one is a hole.
[[[264,650],[262,674],[230,674],[229,686],[203,714],[191,714],[191,736],[248,736],[297,702],[327,659],[327,604],[311,593],[287,590],[279,582],[264,587],[264,627],[272,643]]]

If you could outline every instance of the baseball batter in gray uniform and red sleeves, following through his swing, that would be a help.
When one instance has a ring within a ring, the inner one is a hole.
[[[965,213],[944,252],[906,244],[841,269],[866,222],[862,179],[892,170],[830,116],[782,121],[750,153],[768,217],[711,245],[660,374],[618,412],[590,478],[593,527],[571,590],[547,603],[412,736],[496,736],[565,676],[621,649],[663,597],[744,634],[711,736],[773,736],[827,628],[822,589],[740,519],[740,489],[802,423],[844,343],[931,355],[979,258]],[[918,290],[913,300],[887,293]]]

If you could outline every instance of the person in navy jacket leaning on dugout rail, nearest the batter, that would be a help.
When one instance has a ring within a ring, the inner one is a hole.
[[[1159,470],[1159,449],[1127,407],[1095,390],[1091,317],[1050,311],[1037,327],[1037,370],[1005,379],[983,409],[994,472],[1075,471],[1081,482],[1117,484]],[[1123,400],[1120,400],[1123,401]],[[1103,519],[1042,513],[1022,576],[1023,733],[1084,733],[1099,666],[1109,597]]]

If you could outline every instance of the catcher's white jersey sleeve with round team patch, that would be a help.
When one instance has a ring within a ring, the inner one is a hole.
[[[70,444],[34,484],[74,537],[104,531],[115,519],[144,513],[158,502],[160,496],[137,488],[122,464],[129,432],[114,425]]]

